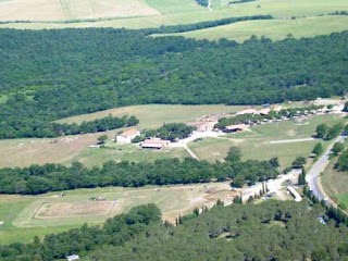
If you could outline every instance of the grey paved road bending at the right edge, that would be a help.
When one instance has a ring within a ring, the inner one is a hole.
[[[343,142],[346,137],[347,136],[341,135],[335,140],[335,142]],[[325,153],[313,164],[311,170],[308,172],[308,175],[306,176],[309,188],[312,190],[312,194],[316,198],[319,198],[319,200],[328,198],[325,191],[323,191],[323,189],[320,186],[319,176],[321,172],[325,169],[326,164],[328,163],[328,157],[333,146],[334,146],[334,142],[330,146],[330,148],[325,151]]]

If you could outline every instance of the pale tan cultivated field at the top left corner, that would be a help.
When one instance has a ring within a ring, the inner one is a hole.
[[[160,14],[141,0],[0,1],[0,21],[70,21]]]

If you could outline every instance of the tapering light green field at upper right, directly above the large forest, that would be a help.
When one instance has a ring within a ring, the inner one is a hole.
[[[314,16],[297,20],[246,21],[231,25],[192,30],[179,35],[187,38],[219,40],[226,38],[243,42],[251,35],[265,36],[273,40],[285,39],[291,34],[295,38],[330,35],[348,29],[348,16]],[[161,36],[161,35],[160,35]]]

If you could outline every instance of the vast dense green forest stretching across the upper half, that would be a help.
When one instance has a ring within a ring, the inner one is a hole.
[[[149,36],[185,28],[1,29],[0,138],[41,137],[52,121],[114,107],[260,104],[348,89],[347,32],[244,44]]]

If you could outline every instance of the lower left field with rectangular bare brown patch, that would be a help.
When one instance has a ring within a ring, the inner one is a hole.
[[[235,196],[228,183],[187,186],[120,188],[107,187],[50,192],[41,196],[0,196],[0,244],[30,241],[84,223],[101,224],[105,219],[144,203],[156,203],[162,219],[175,222],[178,214],[196,207],[212,206],[216,200]],[[90,200],[103,197],[102,201]],[[11,202],[11,203],[10,203]]]

